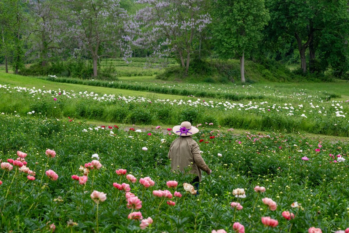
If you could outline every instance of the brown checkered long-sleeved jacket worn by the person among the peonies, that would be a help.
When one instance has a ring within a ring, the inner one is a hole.
[[[191,174],[199,176],[200,181],[201,170],[207,173],[210,172],[210,169],[201,157],[198,143],[191,137],[175,139],[171,143],[168,157],[171,159],[171,170],[180,170],[181,172],[190,170]]]

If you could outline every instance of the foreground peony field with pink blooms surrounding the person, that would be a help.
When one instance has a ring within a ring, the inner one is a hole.
[[[103,126],[0,115],[3,232],[349,231],[345,142],[201,130],[195,190],[176,135]]]

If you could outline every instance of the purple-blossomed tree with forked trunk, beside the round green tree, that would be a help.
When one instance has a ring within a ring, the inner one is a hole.
[[[135,44],[153,51],[151,62],[176,57],[188,72],[195,42],[211,22],[205,0],[138,0],[145,7],[135,19],[140,25],[140,36]]]

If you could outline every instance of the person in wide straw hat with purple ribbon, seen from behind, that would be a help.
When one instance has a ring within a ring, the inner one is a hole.
[[[212,172],[201,157],[198,143],[191,137],[199,130],[187,121],[174,126],[172,130],[179,137],[170,146],[168,157],[171,159],[171,169],[184,172],[188,165],[191,166],[190,173],[195,175],[191,183],[198,189],[199,182],[201,182],[201,170],[207,174]]]

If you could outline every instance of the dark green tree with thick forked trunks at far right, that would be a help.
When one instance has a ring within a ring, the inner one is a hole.
[[[345,0],[268,0],[266,6],[271,17],[267,28],[268,34],[274,39],[295,38],[300,55],[300,67],[303,73],[306,73],[306,50],[309,48],[310,66],[314,66],[315,52],[321,45],[319,41],[322,36],[335,35],[336,31],[343,32],[343,28],[348,28],[348,17],[344,16],[348,14],[347,4],[348,1]],[[340,18],[338,13],[341,15],[341,20],[338,20]],[[334,28],[336,30],[333,30]],[[343,43],[345,35],[344,33],[336,37]],[[333,39],[332,36],[328,38]],[[322,44],[326,44],[324,42]]]

